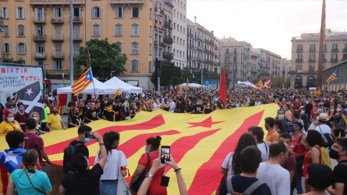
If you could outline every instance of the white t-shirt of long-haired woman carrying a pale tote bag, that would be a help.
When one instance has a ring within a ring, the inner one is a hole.
[[[104,179],[118,179],[119,176],[119,159],[118,159],[118,152],[120,152],[120,166],[124,167],[128,165],[127,158],[125,157],[124,153],[122,151],[112,149],[111,152],[107,155],[107,161],[104,167],[104,174],[101,175],[100,180]],[[96,153],[94,165],[98,163],[99,159],[99,152]]]

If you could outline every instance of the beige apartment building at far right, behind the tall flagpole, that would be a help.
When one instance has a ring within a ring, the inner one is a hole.
[[[316,86],[320,33],[302,33],[291,39],[291,88]],[[323,69],[347,58],[347,32],[325,29]]]

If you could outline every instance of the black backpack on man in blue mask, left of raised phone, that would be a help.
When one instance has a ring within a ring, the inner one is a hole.
[[[77,147],[82,145],[84,144],[77,142],[77,140],[73,140],[64,150],[63,171],[65,174],[67,174],[69,171],[73,171],[72,160],[76,156]]]

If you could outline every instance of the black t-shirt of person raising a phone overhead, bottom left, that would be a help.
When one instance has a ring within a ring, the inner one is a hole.
[[[104,173],[99,163],[91,170],[84,172],[69,172],[62,180],[61,186],[67,189],[71,195],[76,194],[100,194],[100,177]]]

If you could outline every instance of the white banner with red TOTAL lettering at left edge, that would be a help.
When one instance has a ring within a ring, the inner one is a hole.
[[[13,93],[36,81],[43,89],[41,68],[0,66],[0,102],[5,106],[6,97],[13,97]]]

